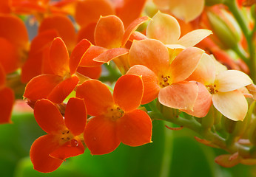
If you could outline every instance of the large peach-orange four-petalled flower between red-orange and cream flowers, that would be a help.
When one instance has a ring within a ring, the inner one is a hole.
[[[131,68],[127,74],[142,76],[144,96],[141,103],[158,100],[170,108],[192,109],[198,96],[198,84],[187,77],[198,66],[203,50],[189,47],[174,60],[166,46],[155,39],[134,41],[129,52]]]

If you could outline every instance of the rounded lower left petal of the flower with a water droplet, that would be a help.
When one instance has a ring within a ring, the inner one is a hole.
[[[42,173],[50,173],[56,170],[63,161],[54,159],[49,154],[58,147],[58,142],[55,142],[55,136],[53,135],[44,135],[36,139],[30,148],[30,159],[34,169]]]

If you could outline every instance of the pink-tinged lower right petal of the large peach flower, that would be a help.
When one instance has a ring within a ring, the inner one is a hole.
[[[198,97],[198,84],[195,82],[173,83],[159,91],[158,100],[169,108],[192,110]]]

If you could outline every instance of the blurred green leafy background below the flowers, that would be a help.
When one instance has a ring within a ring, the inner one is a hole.
[[[30,162],[30,145],[44,134],[33,114],[14,113],[13,124],[0,125],[1,177],[253,177],[256,166],[238,164],[232,168],[215,164],[223,150],[196,142],[192,131],[171,131],[168,122],[153,121],[152,143],[141,147],[120,145],[114,152],[92,156],[89,150],[67,159],[53,173],[38,173]]]

